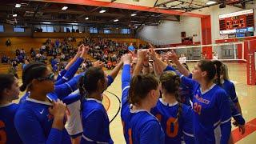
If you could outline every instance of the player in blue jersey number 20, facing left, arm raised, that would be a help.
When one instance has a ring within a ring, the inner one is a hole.
[[[153,47],[151,47],[150,52],[154,56]],[[174,63],[178,63],[176,54],[172,53],[170,57]],[[152,59],[158,63],[162,70],[174,70],[158,58],[153,57]],[[194,66],[192,79],[181,75],[182,83],[189,86],[194,94],[193,126],[196,143],[228,143],[230,138],[229,98],[225,90],[214,84],[215,74],[214,62],[201,60]]]

